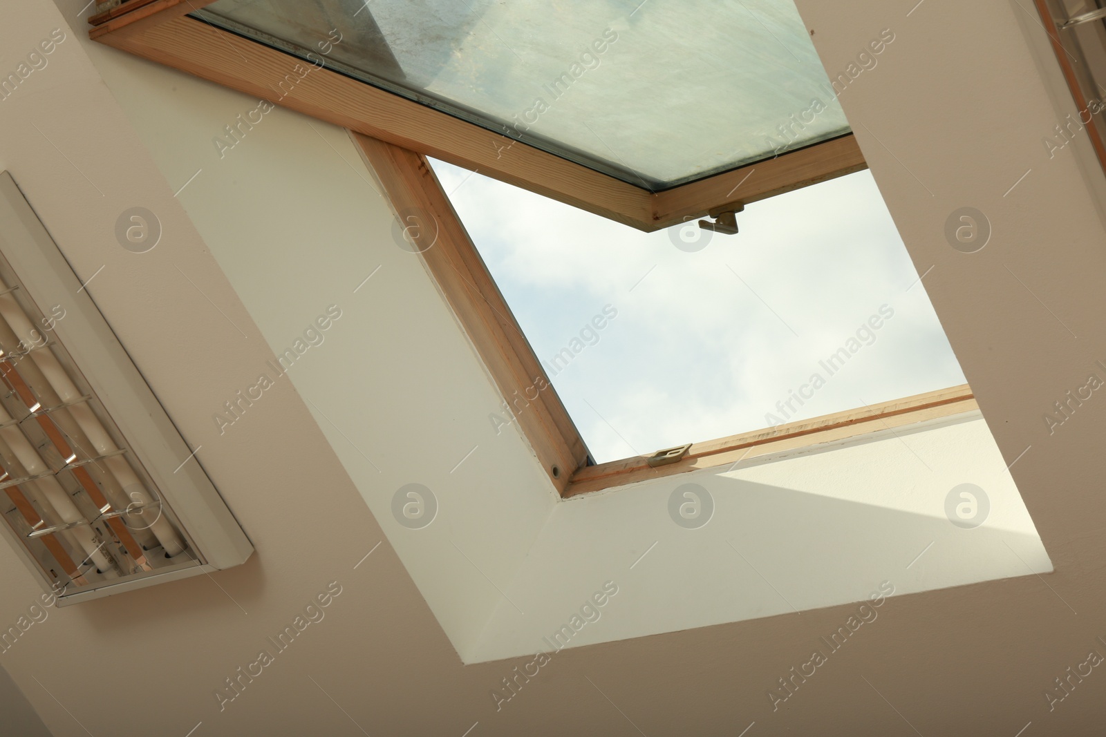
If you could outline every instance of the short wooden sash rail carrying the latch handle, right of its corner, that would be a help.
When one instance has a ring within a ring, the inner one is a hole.
[[[755,202],[867,169],[853,134],[654,196],[654,227],[669,228],[731,202]]]

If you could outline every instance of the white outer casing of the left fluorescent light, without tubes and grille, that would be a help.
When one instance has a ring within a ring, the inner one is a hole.
[[[246,533],[199,462],[182,463],[192,450],[7,171],[0,172],[0,276],[9,286],[18,284],[24,298],[35,305],[65,309],[64,319],[53,327],[58,341],[118,428],[133,460],[153,482],[165,513],[188,540],[194,564],[155,569],[95,588],[71,586],[56,594],[15,530],[0,523],[0,530],[44,590],[55,593],[58,606],[64,607],[246,562],[253,552]]]

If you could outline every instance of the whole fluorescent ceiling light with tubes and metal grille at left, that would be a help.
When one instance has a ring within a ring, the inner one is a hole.
[[[30,204],[0,175],[0,510],[60,604],[253,548]],[[109,402],[102,401],[109,397]]]

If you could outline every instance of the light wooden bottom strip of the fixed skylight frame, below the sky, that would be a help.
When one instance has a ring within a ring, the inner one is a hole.
[[[835,412],[702,443],[692,443],[687,455],[668,465],[650,467],[647,456],[601,463],[577,471],[564,497],[597,492],[689,471],[737,463],[742,459],[832,442],[924,420],[979,409],[968,385],[883,402],[864,409]]]

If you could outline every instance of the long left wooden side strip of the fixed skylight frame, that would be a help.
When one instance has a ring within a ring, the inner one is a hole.
[[[422,238],[436,235],[420,253],[422,263],[563,493],[586,462],[587,449],[434,170],[419,154],[352,131],[351,137],[400,222],[421,229]],[[501,417],[511,422],[511,413]]]

